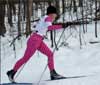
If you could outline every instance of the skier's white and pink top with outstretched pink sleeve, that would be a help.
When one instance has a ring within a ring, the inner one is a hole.
[[[45,36],[47,31],[61,29],[62,25],[52,25],[53,19],[45,15],[42,17],[39,22],[36,25],[36,30],[38,31],[38,34],[41,36]]]

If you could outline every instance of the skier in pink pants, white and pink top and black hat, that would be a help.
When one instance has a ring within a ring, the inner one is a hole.
[[[41,53],[47,56],[48,68],[50,70],[51,80],[64,78],[55,71],[54,59],[53,59],[54,54],[43,41],[47,31],[67,27],[67,24],[65,23],[59,25],[53,25],[52,23],[56,17],[57,17],[57,10],[54,6],[50,5],[47,8],[47,14],[43,16],[37,23],[36,25],[37,31],[35,33],[32,33],[32,35],[28,39],[27,48],[25,50],[24,56],[16,62],[13,69],[7,72],[7,76],[11,82],[15,82],[14,76],[16,72],[23,64],[25,64],[32,57],[32,55],[35,53],[36,50],[40,51]]]

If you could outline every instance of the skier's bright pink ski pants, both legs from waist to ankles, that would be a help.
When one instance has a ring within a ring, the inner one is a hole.
[[[27,41],[27,48],[25,50],[24,56],[18,60],[14,66],[14,71],[17,71],[23,64],[25,64],[38,50],[48,57],[48,67],[50,70],[54,69],[53,52],[48,48],[48,46],[43,42],[43,37],[39,34],[32,34]]]

